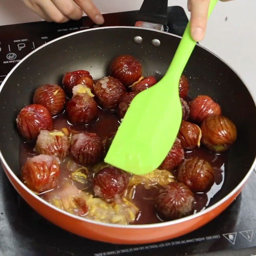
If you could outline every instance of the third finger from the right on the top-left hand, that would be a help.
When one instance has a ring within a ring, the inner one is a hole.
[[[69,20],[63,13],[60,12],[60,10],[55,4],[53,4],[51,0],[37,0],[36,4],[41,7],[54,22],[62,23]]]

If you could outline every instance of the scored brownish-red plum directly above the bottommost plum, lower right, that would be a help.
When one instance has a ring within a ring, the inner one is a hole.
[[[214,183],[214,170],[204,159],[191,157],[180,164],[178,180],[193,192],[204,192]]]

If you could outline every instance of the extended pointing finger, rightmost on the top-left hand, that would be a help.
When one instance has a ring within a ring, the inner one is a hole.
[[[104,23],[104,18],[92,0],[74,0],[78,6],[96,23]]]

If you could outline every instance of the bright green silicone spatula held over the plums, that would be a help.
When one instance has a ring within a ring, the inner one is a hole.
[[[217,1],[211,1],[208,16]],[[195,45],[189,22],[165,76],[132,100],[105,157],[106,163],[144,175],[163,162],[180,129],[180,76]]]

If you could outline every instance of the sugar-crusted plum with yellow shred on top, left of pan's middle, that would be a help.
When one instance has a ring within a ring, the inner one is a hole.
[[[68,136],[58,130],[42,130],[36,140],[36,152],[64,159],[69,150]]]

